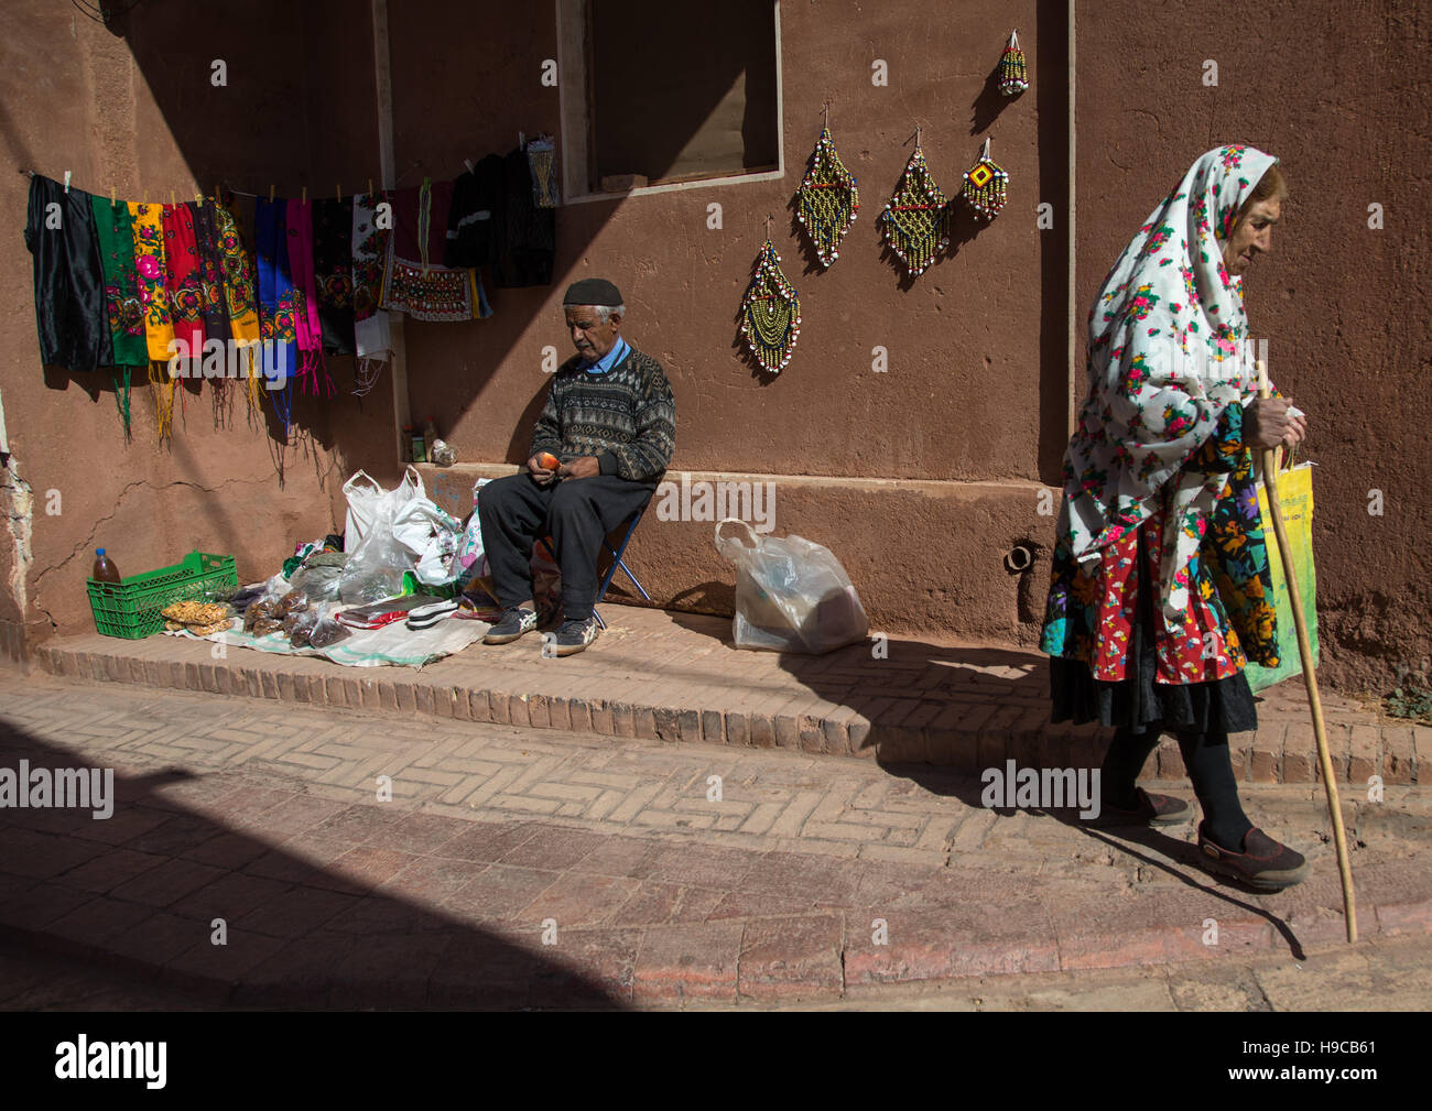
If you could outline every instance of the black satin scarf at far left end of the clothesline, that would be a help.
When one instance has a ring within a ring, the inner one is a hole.
[[[70,371],[113,362],[90,195],[32,175],[24,245],[34,256],[40,361]]]

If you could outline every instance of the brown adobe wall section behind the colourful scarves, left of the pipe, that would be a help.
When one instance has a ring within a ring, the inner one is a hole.
[[[84,578],[96,545],[125,574],[199,548],[236,556],[241,580],[266,576],[295,541],[335,520],[342,528],[348,474],[397,471],[391,379],[359,402],[348,392],[351,359],[331,361],[335,399],[295,398],[288,445],[272,435],[272,409],[253,419],[236,388],[221,402],[212,382],[189,382],[173,440],[159,447],[155,391],[142,381],[126,442],[107,369],[40,365],[21,238],[29,179],[17,169],[57,180],[69,169],[76,188],[155,202],[170,192],[192,199],[196,182],[212,192],[221,178],[248,192],[274,183],[282,195],[305,185],[331,193],[335,172],[349,185],[378,175],[367,20],[341,17],[351,11],[341,0],[245,7],[212,34],[180,0],[145,3],[143,20],[120,34],[70,4],[23,0],[6,10],[0,395],[13,455],[0,491],[0,643],[11,657],[23,636],[93,629]],[[215,57],[228,66],[226,86],[211,80]]]

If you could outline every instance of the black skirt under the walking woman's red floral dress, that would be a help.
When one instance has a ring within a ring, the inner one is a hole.
[[[1153,591],[1144,567],[1143,544],[1138,563],[1138,620],[1130,633],[1124,679],[1107,683],[1094,679],[1088,664],[1061,656],[1050,657],[1051,722],[1077,726],[1098,722],[1136,733],[1150,729],[1177,733],[1243,733],[1257,729],[1257,709],[1247,676],[1239,671],[1209,683],[1158,683],[1154,649]]]

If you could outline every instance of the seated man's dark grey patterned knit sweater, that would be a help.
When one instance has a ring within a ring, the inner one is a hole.
[[[596,455],[601,474],[654,482],[676,448],[676,401],[662,364],[636,348],[606,374],[587,374],[573,355],[551,379],[528,458],[563,462]]]

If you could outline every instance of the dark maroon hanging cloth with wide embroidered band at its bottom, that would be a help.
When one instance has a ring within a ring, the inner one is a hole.
[[[425,178],[400,189],[392,203],[392,259],[382,285],[382,306],[420,321],[470,321],[477,293],[473,272],[441,262],[447,246],[453,182]]]

